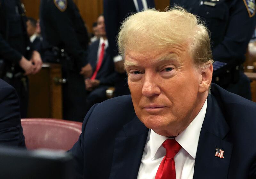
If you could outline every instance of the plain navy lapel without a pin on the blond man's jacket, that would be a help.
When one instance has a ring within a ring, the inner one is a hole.
[[[136,116],[115,139],[109,179],[136,179],[148,137],[148,128]]]

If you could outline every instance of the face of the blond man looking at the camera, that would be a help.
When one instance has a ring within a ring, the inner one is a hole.
[[[177,136],[196,117],[199,84],[185,46],[138,53],[126,51],[125,69],[136,115],[163,136]]]

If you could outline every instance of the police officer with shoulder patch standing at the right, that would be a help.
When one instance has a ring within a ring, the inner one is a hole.
[[[250,80],[242,63],[256,24],[255,0],[171,0],[205,21],[211,32],[212,82],[251,99]]]

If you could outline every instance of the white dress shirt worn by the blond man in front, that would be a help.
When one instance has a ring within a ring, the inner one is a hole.
[[[197,145],[206,107],[207,99],[195,119],[175,137],[176,141],[182,146],[174,157],[176,179],[193,179]],[[157,169],[166,154],[162,145],[166,139],[167,137],[160,136],[151,129],[148,131],[137,179],[155,178]]]

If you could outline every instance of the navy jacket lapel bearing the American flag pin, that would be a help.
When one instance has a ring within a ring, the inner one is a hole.
[[[199,136],[194,169],[195,179],[226,179],[233,144],[223,140],[229,131],[220,107],[211,94]],[[216,148],[224,150],[224,158],[215,156]]]

